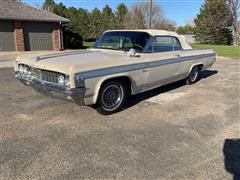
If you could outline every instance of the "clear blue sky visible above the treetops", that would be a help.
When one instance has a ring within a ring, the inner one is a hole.
[[[44,0],[22,0],[30,5],[41,7]],[[89,11],[95,7],[102,9],[108,4],[113,10],[119,3],[125,3],[129,8],[132,4],[140,2],[139,0],[55,0],[56,3],[62,2],[67,7],[84,8]],[[164,10],[164,14],[170,20],[176,22],[177,26],[185,25],[199,13],[204,0],[155,0]]]

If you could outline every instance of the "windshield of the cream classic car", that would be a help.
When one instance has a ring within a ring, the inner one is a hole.
[[[113,31],[104,33],[92,48],[143,51],[150,35],[145,32]]]

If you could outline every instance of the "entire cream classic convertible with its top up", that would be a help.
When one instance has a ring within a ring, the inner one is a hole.
[[[109,114],[119,111],[129,95],[182,79],[194,83],[215,60],[212,49],[192,49],[174,32],[114,30],[87,50],[19,56],[14,71],[38,92],[98,104]]]

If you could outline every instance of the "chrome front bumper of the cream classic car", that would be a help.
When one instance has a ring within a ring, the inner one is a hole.
[[[41,81],[34,78],[22,76],[21,73],[15,72],[15,78],[24,85],[30,86],[37,92],[59,99],[68,99],[78,105],[84,105],[85,88],[67,88],[54,83]]]

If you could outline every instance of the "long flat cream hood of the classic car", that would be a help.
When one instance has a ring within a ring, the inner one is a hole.
[[[17,63],[65,74],[85,72],[129,63],[124,52],[113,51],[71,51],[43,56],[19,56]]]

